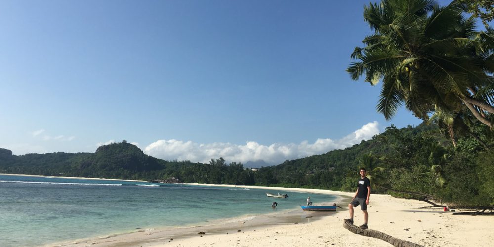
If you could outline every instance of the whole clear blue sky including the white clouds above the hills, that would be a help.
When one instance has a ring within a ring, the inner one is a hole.
[[[416,126],[345,72],[368,2],[3,0],[0,147],[278,164]]]

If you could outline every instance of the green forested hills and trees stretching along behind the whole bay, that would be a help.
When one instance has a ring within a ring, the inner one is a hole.
[[[0,172],[156,180],[176,177],[185,183],[215,183],[306,187],[353,191],[358,169],[366,167],[374,193],[464,208],[494,207],[494,139],[482,125],[456,141],[437,125],[386,128],[371,140],[259,169],[223,158],[208,164],[165,161],[144,154],[123,141],[99,147],[95,153],[13,155],[0,149]]]

